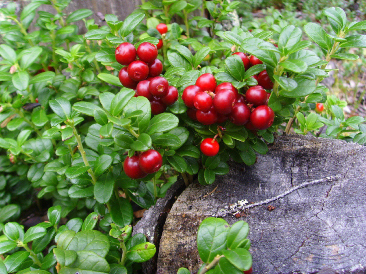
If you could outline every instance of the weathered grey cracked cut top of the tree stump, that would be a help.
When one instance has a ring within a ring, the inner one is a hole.
[[[253,207],[229,224],[248,222],[253,273],[317,273],[325,267],[344,274],[366,273],[366,147],[340,140],[279,136],[253,166],[231,162],[231,171],[209,187],[191,184],[168,214],[160,240],[157,274],[201,262],[196,248],[200,222],[238,200],[259,202],[304,181],[307,185],[265,206]],[[207,197],[207,193],[216,191]],[[143,225],[143,220],[140,225]]]

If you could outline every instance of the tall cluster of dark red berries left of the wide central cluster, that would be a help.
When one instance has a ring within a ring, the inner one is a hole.
[[[136,50],[134,45],[124,42],[117,46],[115,56],[118,63],[126,66],[119,71],[120,82],[134,89],[136,97],[146,97],[153,115],[163,113],[167,106],[178,100],[178,90],[169,86],[167,79],[159,76],[163,72],[163,64],[157,59],[158,49],[155,45],[143,42]]]

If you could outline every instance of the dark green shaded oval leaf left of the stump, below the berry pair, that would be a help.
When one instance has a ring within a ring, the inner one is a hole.
[[[118,200],[112,200],[110,204],[112,221],[121,228],[130,225],[133,218],[130,202],[125,198],[119,198]]]

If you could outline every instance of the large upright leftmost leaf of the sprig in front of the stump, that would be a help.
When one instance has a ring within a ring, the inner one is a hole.
[[[230,226],[221,218],[209,217],[202,221],[197,232],[197,248],[204,263],[211,262],[226,247]]]

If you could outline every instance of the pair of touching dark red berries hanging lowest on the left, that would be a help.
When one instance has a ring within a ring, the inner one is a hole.
[[[123,170],[132,179],[141,179],[147,174],[157,172],[163,164],[163,157],[154,149],[147,150],[141,155],[128,157],[123,162]]]

